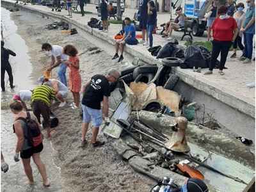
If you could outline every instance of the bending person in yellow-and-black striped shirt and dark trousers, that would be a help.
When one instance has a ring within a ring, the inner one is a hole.
[[[33,113],[37,120],[40,122],[40,115],[44,118],[44,124],[47,131],[47,139],[51,136],[51,121],[50,121],[50,108],[55,98],[54,89],[49,82],[36,87],[32,92],[31,104]]]

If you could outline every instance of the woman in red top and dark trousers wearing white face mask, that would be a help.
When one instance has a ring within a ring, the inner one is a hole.
[[[204,73],[205,75],[212,74],[219,54],[221,56],[219,74],[224,75],[223,68],[227,60],[228,51],[236,40],[238,33],[236,20],[227,15],[227,6],[220,6],[218,15],[220,17],[216,17],[211,26],[212,54],[209,70]]]

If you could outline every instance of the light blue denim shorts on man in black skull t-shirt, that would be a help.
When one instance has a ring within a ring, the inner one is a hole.
[[[100,127],[102,124],[102,114],[100,109],[92,109],[82,105],[83,122],[88,124],[92,120],[93,127]]]

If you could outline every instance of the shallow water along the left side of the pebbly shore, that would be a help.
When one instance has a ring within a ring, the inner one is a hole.
[[[12,65],[13,82],[16,87],[13,90],[10,89],[8,74],[6,73],[6,92],[1,92],[1,104],[5,100],[12,99],[14,93],[19,92],[19,90],[33,89],[36,86],[36,83],[30,77],[32,65],[28,55],[28,46],[24,39],[20,35],[17,35],[17,26],[10,18],[11,13],[1,8],[1,20],[4,25],[4,47],[11,49],[17,54],[16,57],[10,56],[9,60]],[[10,110],[1,110],[1,150],[4,160],[9,165],[8,172],[1,172],[1,191],[63,191],[60,168],[54,164],[51,157],[54,150],[51,147],[51,142],[46,140],[44,140],[44,150],[41,153],[41,158],[45,164],[47,175],[51,175],[49,176],[49,180],[51,184],[54,184],[49,188],[42,186],[42,177],[31,159],[35,185],[33,187],[28,185],[28,178],[24,173],[21,159],[17,163],[13,160],[17,143],[17,137],[13,133],[12,128],[14,117],[15,115]]]

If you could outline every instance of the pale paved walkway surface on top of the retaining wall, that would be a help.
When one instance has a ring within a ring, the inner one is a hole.
[[[5,0],[8,2],[15,3],[15,1],[12,0]],[[38,12],[48,12],[52,16],[56,16],[59,19],[64,18],[70,22],[73,22],[74,24],[80,24],[80,25],[87,25],[87,22],[90,20],[91,17],[95,17],[97,19],[100,19],[97,17],[97,10],[95,8],[94,4],[87,4],[84,7],[84,10],[87,12],[92,12],[90,14],[86,13],[85,17],[81,17],[80,13],[73,13],[72,18],[69,18],[67,16],[68,12],[67,10],[61,10],[61,12],[52,12],[51,8],[47,6],[41,6],[41,5],[25,5],[24,7],[32,10],[36,10]],[[79,6],[78,6],[79,7]],[[79,10],[79,8],[78,8]],[[136,10],[134,9],[128,9],[125,8],[125,12],[123,15],[124,17],[130,17],[133,18],[134,13]],[[157,26],[160,26],[163,22],[166,22],[170,19],[169,13],[157,13]],[[113,17],[111,17],[113,19]],[[111,24],[109,26],[109,32],[108,33],[100,33],[93,34],[96,36],[103,36],[105,38],[102,38],[104,40],[108,40],[108,42],[114,41],[114,36],[118,31],[122,29],[121,24]],[[95,33],[93,32],[93,33]],[[137,32],[137,34],[140,34],[141,32]],[[181,32],[173,32],[173,37],[177,38],[179,40],[179,44],[183,45],[186,41],[180,41],[180,37],[182,36]],[[206,41],[207,40],[207,34],[204,33],[201,37],[193,37],[194,41]],[[165,45],[168,41],[165,38],[162,38],[161,35],[154,35],[154,46],[156,45]],[[156,60],[156,57],[153,57],[150,55],[150,52],[147,51],[146,47],[143,45],[133,45],[133,46],[127,46],[126,50],[129,51],[129,53],[134,53],[133,55],[136,56],[138,54],[144,55],[145,58],[148,58],[150,61],[154,61],[154,63],[159,63],[161,60]],[[211,76],[204,76],[204,72],[207,70],[207,68],[202,69],[202,73],[192,72],[191,69],[181,69],[179,67],[175,67],[175,72],[177,74],[182,73],[183,76],[193,77],[197,79],[198,81],[208,84],[209,86],[212,86],[213,88],[218,89],[222,93],[227,93],[228,95],[231,95],[232,97],[242,100],[243,102],[246,102],[252,107],[255,107],[255,88],[246,88],[246,84],[252,83],[255,81],[255,63],[251,64],[243,64],[240,61],[237,61],[236,59],[231,59],[230,56],[232,54],[232,51],[229,52],[227,63],[225,67],[227,67],[227,70],[224,70],[225,75],[220,76],[218,75],[218,70],[214,70],[214,74]],[[253,52],[254,54],[254,52]],[[241,51],[237,52],[237,56],[241,55]],[[146,60],[147,61],[147,60]],[[149,63],[149,62],[148,62]],[[186,79],[182,79],[186,82]],[[187,82],[186,82],[187,83]],[[188,82],[189,83],[189,82]],[[218,96],[216,96],[216,99],[218,99]],[[254,113],[254,112],[253,112]]]

